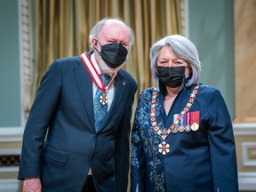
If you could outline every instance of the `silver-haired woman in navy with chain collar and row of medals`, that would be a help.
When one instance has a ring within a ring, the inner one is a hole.
[[[156,87],[140,94],[131,191],[237,192],[236,145],[220,91],[198,83],[196,46],[180,35],[150,49]]]

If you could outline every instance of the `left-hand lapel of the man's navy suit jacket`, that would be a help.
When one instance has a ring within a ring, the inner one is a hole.
[[[92,100],[92,78],[84,67],[84,63],[80,58],[76,60],[78,65],[75,67],[76,80],[79,87],[79,92],[83,100],[83,105],[91,126],[94,128],[94,117],[93,117],[93,100]]]

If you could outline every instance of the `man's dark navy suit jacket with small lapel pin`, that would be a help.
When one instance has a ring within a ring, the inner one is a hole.
[[[38,177],[47,192],[80,192],[91,167],[98,191],[127,191],[137,84],[124,69],[115,84],[108,116],[95,132],[91,76],[79,57],[55,60],[28,117],[18,179]]]

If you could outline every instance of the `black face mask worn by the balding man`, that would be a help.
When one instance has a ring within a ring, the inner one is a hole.
[[[94,48],[96,49],[96,47]],[[97,50],[97,52],[99,51]],[[113,43],[101,46],[101,52],[99,53],[101,59],[104,60],[109,68],[117,68],[126,60],[128,51],[122,44]]]

